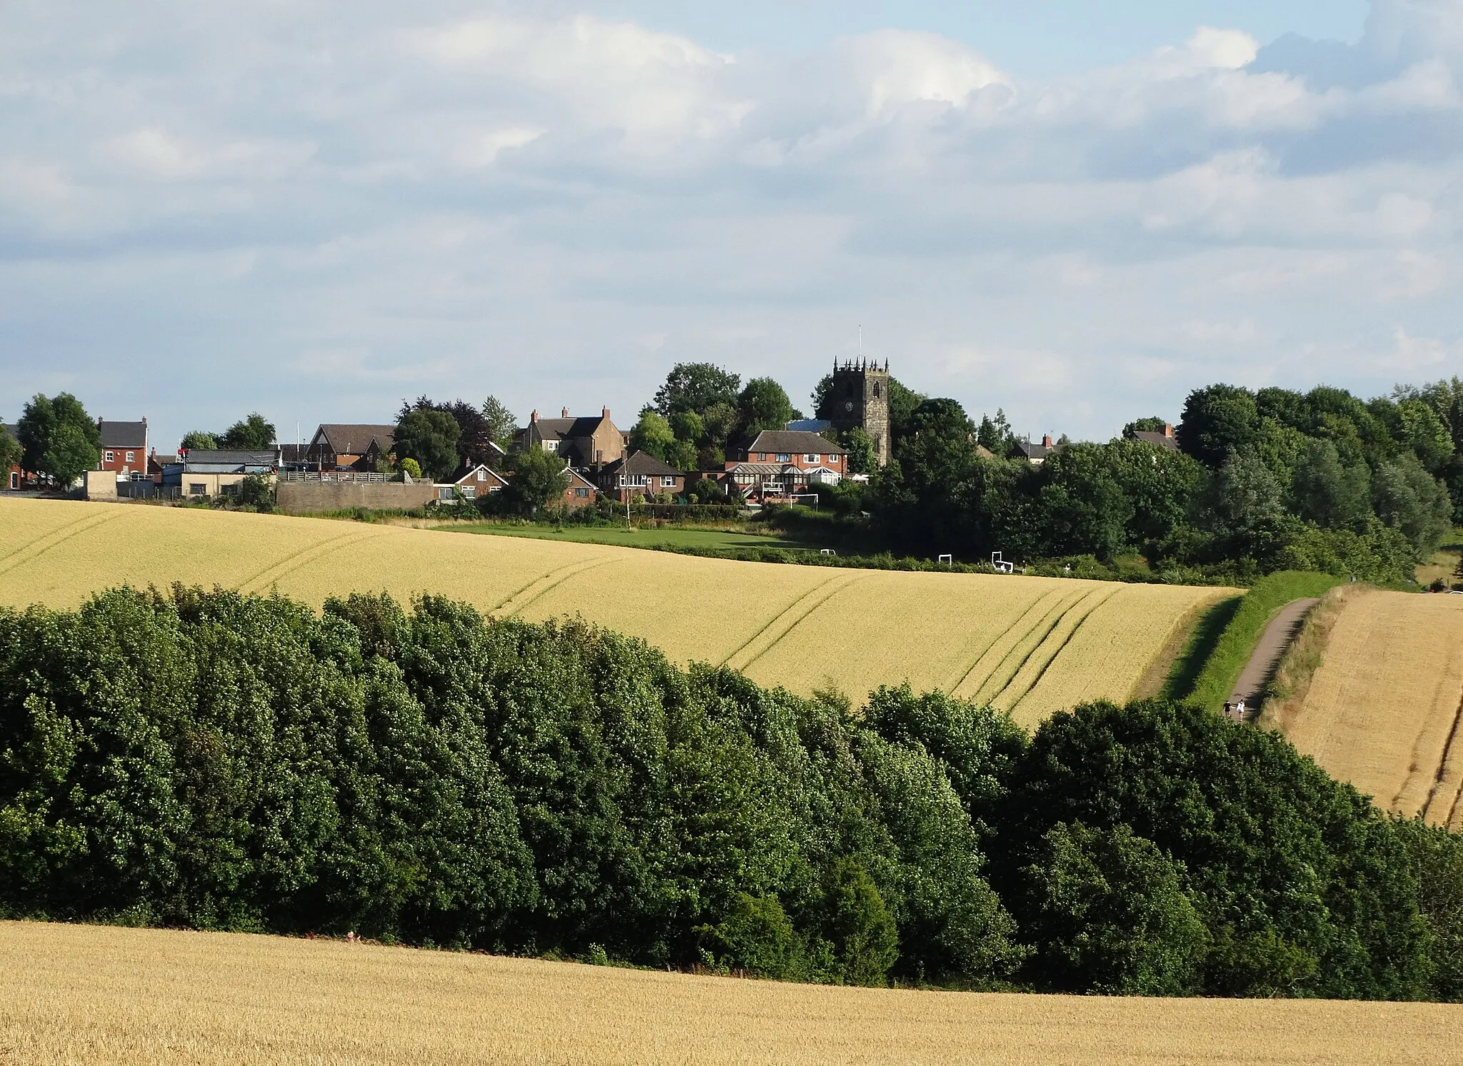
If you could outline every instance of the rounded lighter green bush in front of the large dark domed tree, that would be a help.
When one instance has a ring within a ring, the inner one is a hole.
[[[1023,870],[1023,931],[1034,980],[1053,991],[1192,996],[1208,931],[1184,892],[1184,867],[1127,825],[1058,823]]]

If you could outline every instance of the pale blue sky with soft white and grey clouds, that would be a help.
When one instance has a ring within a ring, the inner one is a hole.
[[[13,0],[0,418],[519,418],[837,358],[1105,440],[1463,373],[1463,0]]]

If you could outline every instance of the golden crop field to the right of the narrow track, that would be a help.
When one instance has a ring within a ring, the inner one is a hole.
[[[1463,597],[1358,589],[1286,736],[1378,806],[1463,829]]]

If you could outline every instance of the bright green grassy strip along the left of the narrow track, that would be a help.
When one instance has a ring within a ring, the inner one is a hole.
[[[1282,570],[1257,581],[1245,595],[1222,601],[1195,627],[1189,648],[1169,677],[1167,693],[1217,711],[1229,699],[1270,619],[1292,600],[1324,595],[1342,581],[1330,573]]]

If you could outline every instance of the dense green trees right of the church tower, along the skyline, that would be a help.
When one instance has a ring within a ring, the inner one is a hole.
[[[1179,452],[1068,445],[1033,468],[1004,417],[925,399],[860,504],[909,551],[1306,569],[1406,581],[1463,521],[1463,382],[1364,402],[1340,389],[1192,392]],[[993,455],[993,458],[988,458]],[[1451,491],[1450,491],[1451,490]]]

